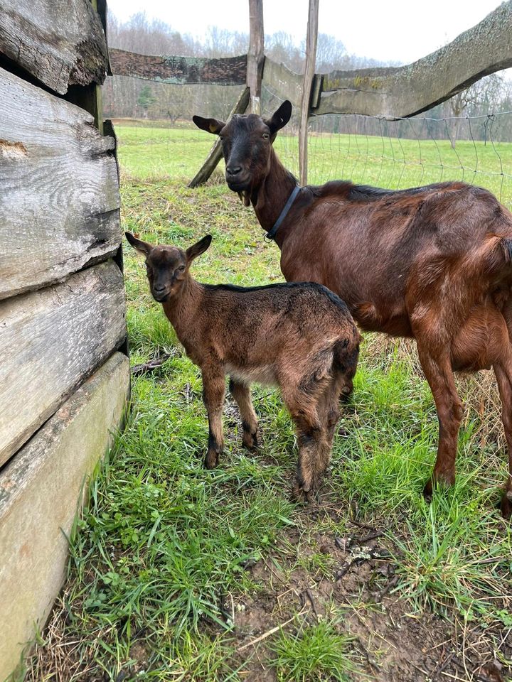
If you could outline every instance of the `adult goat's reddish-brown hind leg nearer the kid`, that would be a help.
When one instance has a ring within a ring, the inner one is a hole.
[[[441,357],[433,357],[422,348],[420,342],[417,347],[421,366],[434,396],[439,420],[437,460],[432,477],[427,481],[424,490],[425,497],[430,497],[435,482],[444,485],[453,485],[455,482],[455,458],[462,421],[462,401],[455,388],[449,352],[442,354]]]

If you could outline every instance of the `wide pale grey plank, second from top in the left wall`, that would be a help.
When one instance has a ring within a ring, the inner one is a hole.
[[[107,259],[121,229],[115,141],[90,114],[0,69],[0,119],[1,299]]]

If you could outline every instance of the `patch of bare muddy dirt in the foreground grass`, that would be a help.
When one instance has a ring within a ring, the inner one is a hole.
[[[339,627],[354,637],[353,654],[359,673],[354,681],[506,682],[512,671],[496,660],[496,633],[434,614],[413,613],[396,590],[397,568],[389,546],[378,529],[361,524],[344,538],[316,534],[300,543],[291,529],[287,543],[298,547],[302,558],[322,553],[334,567],[332,575],[312,578],[304,568],[278,568],[269,560],[258,561],[250,571],[262,584],[254,599],[235,601],[234,632],[238,639],[238,664],[244,680],[274,681],[276,672],[268,644],[282,628],[295,633],[336,612],[343,613]],[[499,638],[498,638],[499,639]],[[510,660],[511,633],[501,639],[501,654]],[[250,656],[252,655],[252,658]]]

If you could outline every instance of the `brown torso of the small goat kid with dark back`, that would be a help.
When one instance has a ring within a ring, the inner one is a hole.
[[[359,333],[346,304],[316,283],[248,288],[203,284],[201,296],[201,313],[186,323],[193,333],[181,335],[176,328],[200,366],[208,356],[231,369],[274,367],[283,358],[287,366],[302,366],[324,350],[334,359],[340,341],[347,352],[358,346]],[[269,377],[252,379],[273,382]]]

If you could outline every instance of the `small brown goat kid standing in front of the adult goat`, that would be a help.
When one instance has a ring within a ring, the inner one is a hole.
[[[126,237],[146,259],[151,294],[191,360],[201,368],[210,436],[205,466],[223,449],[225,375],[242,416],[246,448],[257,447],[257,416],[250,384],[274,384],[297,426],[299,463],[295,494],[307,498],[329,464],[338,399],[352,390],[359,332],[345,303],[314,283],[242,288],[201,284],[188,269],[210,246],[206,235],[183,251]]]

